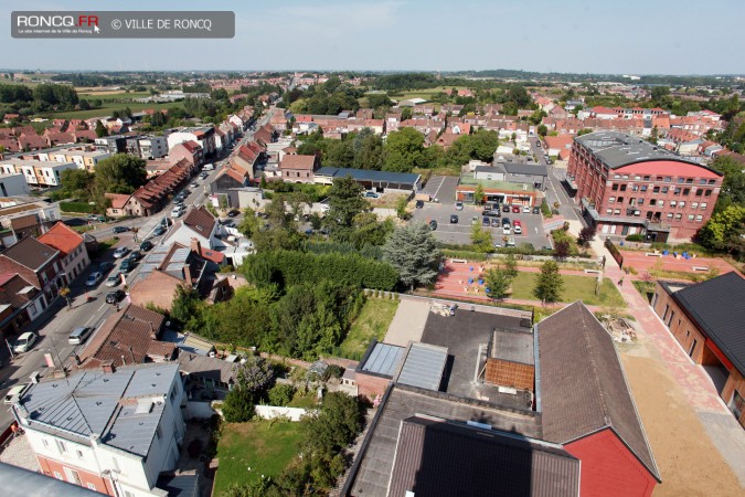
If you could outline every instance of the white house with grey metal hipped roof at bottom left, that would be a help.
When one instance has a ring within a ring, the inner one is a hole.
[[[33,383],[13,405],[41,472],[115,497],[161,497],[179,459],[185,394],[177,363],[75,371]]]

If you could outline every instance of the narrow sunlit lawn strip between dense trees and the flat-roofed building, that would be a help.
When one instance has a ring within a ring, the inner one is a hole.
[[[368,298],[360,316],[352,322],[352,328],[341,342],[341,356],[359,360],[373,338],[382,340],[398,308],[398,300]]]

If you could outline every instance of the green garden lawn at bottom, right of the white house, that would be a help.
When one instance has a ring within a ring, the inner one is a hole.
[[[214,494],[221,496],[233,485],[264,476],[278,476],[296,456],[300,424],[288,421],[225,423],[217,443],[220,469]],[[248,470],[251,468],[251,470]]]

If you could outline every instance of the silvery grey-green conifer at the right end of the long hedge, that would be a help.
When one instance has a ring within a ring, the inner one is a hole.
[[[398,272],[398,279],[412,290],[437,277],[440,252],[432,230],[424,223],[397,228],[383,245],[383,258]]]

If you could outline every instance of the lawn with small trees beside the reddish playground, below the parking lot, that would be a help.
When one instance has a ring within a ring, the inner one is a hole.
[[[533,287],[536,276],[536,273],[518,273],[518,277],[512,282],[512,295],[510,297],[535,300]],[[562,275],[562,278],[564,279],[562,292],[562,302],[564,303],[582,300],[588,306],[616,305],[626,307],[626,302],[609,278],[603,278],[599,297],[595,296],[595,278],[593,276]]]

